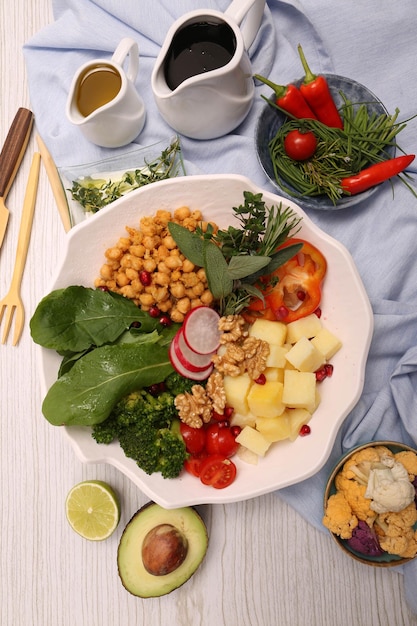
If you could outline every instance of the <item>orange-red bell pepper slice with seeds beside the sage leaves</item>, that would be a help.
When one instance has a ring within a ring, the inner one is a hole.
[[[289,239],[284,246],[302,243],[300,252],[278,267],[267,277],[262,300],[253,300],[243,316],[254,322],[261,317],[281,322],[294,322],[314,313],[321,301],[321,284],[326,275],[327,262],[320,250],[304,239]],[[273,287],[272,278],[278,278]]]

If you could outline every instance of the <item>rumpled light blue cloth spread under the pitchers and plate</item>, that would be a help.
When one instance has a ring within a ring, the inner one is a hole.
[[[85,61],[110,58],[123,37],[141,54],[136,86],[147,110],[139,145],[172,134],[160,117],[150,89],[156,56],[172,22],[187,11],[224,11],[229,0],[53,0],[55,21],[24,47],[31,106],[40,135],[58,166],[114,154],[98,148],[65,117],[71,79]],[[267,0],[263,22],[249,54],[253,72],[286,84],[302,76],[301,43],[316,73],[347,76],[366,85],[400,119],[417,113],[417,3],[415,0]],[[236,173],[274,191],[257,160],[254,134],[264,106],[257,85],[253,107],[232,133],[200,142],[181,138],[189,173]],[[416,150],[417,119],[399,137],[405,152]],[[138,146],[132,144],[132,147]],[[122,149],[125,150],[125,149]],[[117,151],[116,151],[117,152]],[[416,165],[413,163],[413,169]],[[346,211],[307,210],[324,231],[351,252],[375,317],[365,386],[342,425],[325,466],[312,478],[277,492],[316,528],[324,530],[322,497],[328,474],[349,448],[391,439],[417,445],[417,199],[399,181],[394,193],[384,184],[370,201]],[[355,320],[352,320],[355,323]],[[396,568],[404,574],[406,596],[417,613],[417,559]]]

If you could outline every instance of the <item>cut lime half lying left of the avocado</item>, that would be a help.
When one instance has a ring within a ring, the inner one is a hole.
[[[85,480],[74,485],[67,495],[65,510],[70,526],[90,541],[110,537],[120,519],[115,492],[100,480]]]

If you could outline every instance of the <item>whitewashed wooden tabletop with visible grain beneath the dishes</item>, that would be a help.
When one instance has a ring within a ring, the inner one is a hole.
[[[49,0],[0,1],[0,141],[20,106],[30,107],[22,45],[52,20]],[[36,149],[34,134],[8,196],[11,218],[0,253],[7,292],[19,218]],[[46,292],[65,234],[41,170],[23,279],[27,319],[20,344],[0,345],[1,626],[410,626],[402,576],[339,553],[276,495],[200,507],[207,557],[182,588],[161,599],[128,594],[116,552],[125,524],[147,498],[116,469],[85,466],[44,420],[28,320]],[[78,481],[100,478],[119,492],[122,518],[99,544],[73,533],[64,501]],[[417,590],[416,590],[417,591]]]

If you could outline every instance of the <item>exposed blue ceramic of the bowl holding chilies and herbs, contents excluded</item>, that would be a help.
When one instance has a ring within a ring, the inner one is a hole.
[[[382,104],[382,102],[371,92],[369,89],[361,85],[360,83],[351,80],[350,78],[344,78],[343,76],[337,76],[335,74],[323,74],[327,79],[331,94],[336,103],[337,107],[340,107],[343,104],[343,99],[340,95],[340,92],[343,92],[348,100],[353,103],[363,103],[366,102],[368,106],[368,110],[371,113],[376,113],[378,115],[386,114],[388,115],[388,111]],[[299,79],[294,81],[294,85],[300,86],[303,79]],[[272,95],[270,98],[271,102],[275,102],[275,96]],[[337,209],[347,209],[351,208],[360,202],[370,198],[376,191],[378,187],[373,187],[363,193],[354,195],[354,196],[345,196],[341,198],[336,205],[328,198],[327,196],[301,196],[299,192],[297,192],[291,185],[288,184],[288,189],[291,191],[289,193],[286,189],[283,189],[279,182],[275,178],[274,168],[271,161],[271,156],[269,154],[268,144],[275,137],[279,128],[284,124],[284,122],[288,118],[284,113],[266,103],[260,118],[258,120],[258,124],[256,127],[256,149],[258,153],[258,158],[260,164],[265,172],[265,174],[270,179],[271,183],[278,189],[280,195],[285,198],[289,198],[297,202],[300,206],[307,209],[320,209],[327,211],[334,211]],[[390,157],[395,155],[395,146],[390,146],[387,149],[387,153]]]

